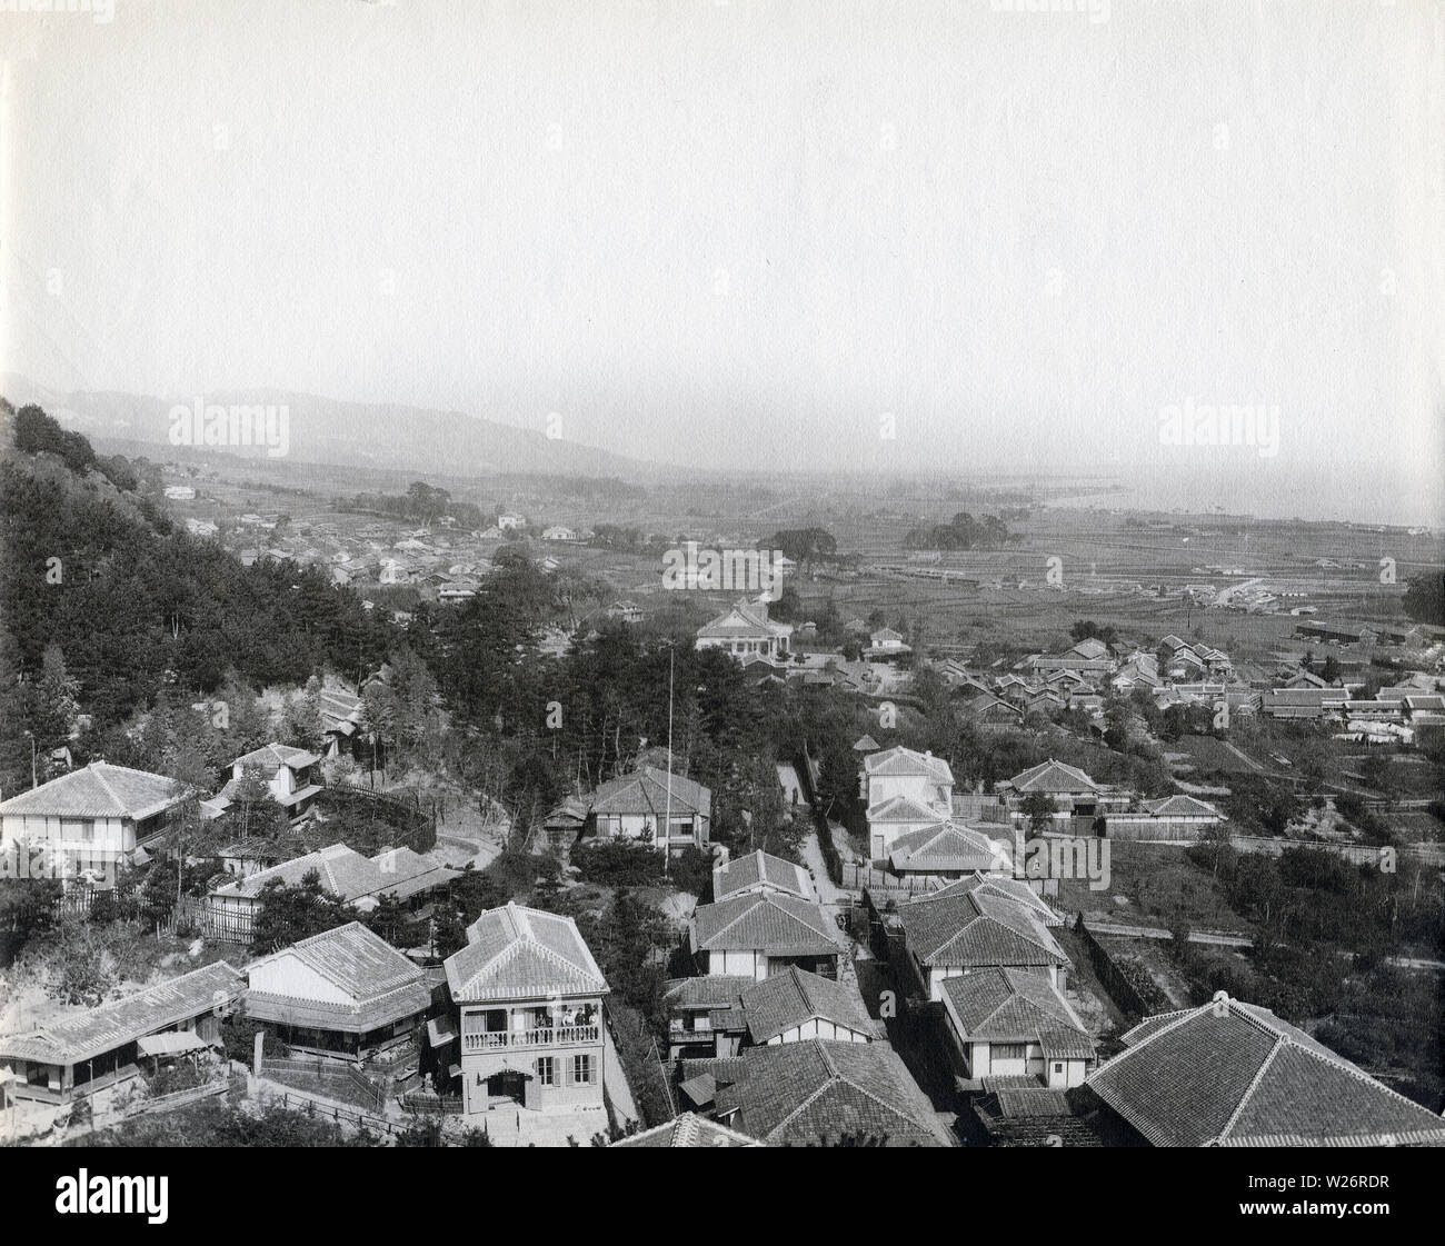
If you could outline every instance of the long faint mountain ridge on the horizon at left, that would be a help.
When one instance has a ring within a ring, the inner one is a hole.
[[[0,374],[0,393],[14,406],[38,403],[65,428],[85,434],[98,450],[107,442],[171,448],[175,406],[191,395],[81,392],[59,393],[13,373]],[[204,396],[207,406],[263,406],[286,412],[286,457],[296,463],[389,468],[419,474],[490,476],[497,473],[616,476],[649,478],[656,464],[624,458],[592,445],[553,439],[542,432],[419,406],[341,402],[285,390],[230,390]],[[215,445],[243,457],[264,457],[259,445]],[[110,452],[114,452],[113,450]]]

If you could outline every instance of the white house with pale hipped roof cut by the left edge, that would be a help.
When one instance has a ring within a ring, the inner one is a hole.
[[[165,775],[91,762],[0,804],[0,851],[16,859],[22,877],[84,875],[108,888],[191,795]]]

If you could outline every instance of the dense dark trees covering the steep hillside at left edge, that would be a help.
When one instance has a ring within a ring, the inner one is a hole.
[[[81,711],[78,762],[165,689],[207,695],[231,678],[253,697],[327,666],[358,678],[393,649],[392,624],[324,572],[244,567],[169,530],[147,517],[146,497],[97,476],[84,438],[38,408],[14,424],[17,448],[29,428],[23,444],[36,452],[0,463],[0,789],[29,785],[26,731],[45,753]],[[49,669],[48,650],[58,655]],[[69,721],[48,701],[58,679],[74,701]]]

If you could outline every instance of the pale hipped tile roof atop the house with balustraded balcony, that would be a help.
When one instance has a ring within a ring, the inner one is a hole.
[[[447,957],[452,999],[604,994],[607,980],[572,918],[509,903],[467,927],[467,947]]]

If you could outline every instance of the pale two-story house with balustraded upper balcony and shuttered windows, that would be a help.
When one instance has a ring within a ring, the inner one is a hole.
[[[447,957],[465,1113],[600,1109],[608,986],[577,922],[509,903],[467,940]]]

